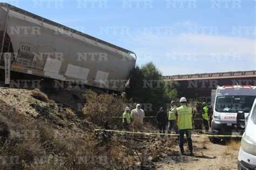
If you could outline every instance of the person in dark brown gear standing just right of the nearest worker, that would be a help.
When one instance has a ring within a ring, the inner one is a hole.
[[[193,108],[193,120],[194,120],[194,129],[197,130],[198,133],[203,133],[203,107],[199,103],[196,104],[196,107]]]

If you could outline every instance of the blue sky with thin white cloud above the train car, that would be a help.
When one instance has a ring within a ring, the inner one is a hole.
[[[255,0],[9,0],[137,53],[165,76],[256,70]]]

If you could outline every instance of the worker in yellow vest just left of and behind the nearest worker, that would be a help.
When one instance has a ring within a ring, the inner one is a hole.
[[[168,125],[168,133],[171,134],[172,128],[174,129],[176,134],[179,134],[179,130],[175,125],[175,112],[176,112],[176,108],[177,106],[175,105],[176,102],[174,100],[171,101],[171,108],[170,111],[168,112],[168,121],[169,121],[169,125]],[[171,135],[168,136],[169,138],[171,137]],[[179,139],[179,136],[178,136]]]

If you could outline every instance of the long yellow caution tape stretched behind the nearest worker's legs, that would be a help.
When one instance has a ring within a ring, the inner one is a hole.
[[[171,135],[171,136],[179,136],[179,134],[170,134],[170,133],[151,133],[151,132],[127,132],[127,131],[116,131],[116,130],[102,130],[96,129],[97,131],[106,131],[106,132],[117,132],[117,133],[133,133],[133,134],[148,134],[148,135]],[[232,138],[241,138],[242,135],[218,135],[218,134],[192,134],[192,137],[200,137],[201,135],[205,135],[206,137],[232,137]]]

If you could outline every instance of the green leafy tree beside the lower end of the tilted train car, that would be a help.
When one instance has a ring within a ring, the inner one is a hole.
[[[154,113],[178,98],[178,86],[176,81],[165,82],[161,71],[150,62],[134,68],[126,98],[130,103],[151,105],[152,109],[147,111]]]

